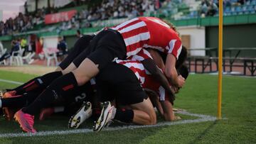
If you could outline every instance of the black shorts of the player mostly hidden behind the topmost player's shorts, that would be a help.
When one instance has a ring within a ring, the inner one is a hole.
[[[88,45],[90,44],[90,40],[92,40],[94,37],[95,35],[84,35],[79,38],[75,42],[74,47],[70,50],[70,52],[68,52],[68,57],[65,57],[65,59],[60,62],[60,68],[65,70],[65,68],[67,68],[68,65],[73,62],[73,60],[75,60],[75,57],[78,57],[83,50],[87,49]]]

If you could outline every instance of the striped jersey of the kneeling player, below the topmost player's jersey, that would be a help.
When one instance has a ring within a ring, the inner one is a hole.
[[[156,82],[156,80],[151,77],[151,74],[144,68],[139,60],[116,60],[116,62],[132,70],[137,79],[139,79],[142,88],[151,89],[157,92],[159,94],[160,101],[165,101],[168,99],[165,89],[161,87],[159,82]]]

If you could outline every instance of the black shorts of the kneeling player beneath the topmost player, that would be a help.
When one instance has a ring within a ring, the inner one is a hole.
[[[117,104],[129,105],[148,98],[134,72],[114,62],[97,75],[96,84],[101,101],[115,99]]]

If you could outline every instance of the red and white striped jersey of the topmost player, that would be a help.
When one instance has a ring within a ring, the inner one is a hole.
[[[112,27],[124,38],[127,57],[136,55],[142,48],[154,48],[177,59],[181,52],[181,38],[164,21],[154,17],[139,17]]]

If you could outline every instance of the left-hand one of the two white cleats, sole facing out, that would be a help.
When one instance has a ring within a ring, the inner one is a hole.
[[[68,121],[68,128],[78,128],[90,116],[92,116],[92,104],[84,101],[77,113]]]

